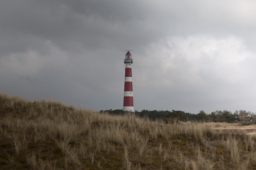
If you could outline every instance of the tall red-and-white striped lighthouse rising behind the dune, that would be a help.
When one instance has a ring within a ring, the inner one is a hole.
[[[124,76],[124,111],[134,112],[133,106],[133,91],[132,91],[132,55],[130,51],[126,50],[127,53],[124,58],[125,64],[125,76]]]

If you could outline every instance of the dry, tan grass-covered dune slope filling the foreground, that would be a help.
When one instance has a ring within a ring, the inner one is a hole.
[[[256,169],[256,137],[0,94],[0,169]]]

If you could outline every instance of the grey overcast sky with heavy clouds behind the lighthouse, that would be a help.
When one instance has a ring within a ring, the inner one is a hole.
[[[0,92],[122,109],[256,112],[255,0],[1,0]]]

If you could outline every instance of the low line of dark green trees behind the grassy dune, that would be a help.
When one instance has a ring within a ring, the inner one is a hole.
[[[107,112],[112,115],[123,115],[126,111],[122,109],[109,109],[109,110],[101,110],[101,113]],[[221,111],[216,110],[210,114],[205,113],[201,110],[197,114],[186,113],[180,110],[172,110],[172,111],[164,111],[164,110],[145,110],[135,111],[135,115],[139,117],[148,117],[151,120],[163,120],[166,123],[170,123],[173,121],[212,121],[212,122],[227,122],[227,123],[241,123],[244,125],[254,124],[256,123],[256,113],[245,111],[245,110],[236,110],[234,113],[231,111]]]

